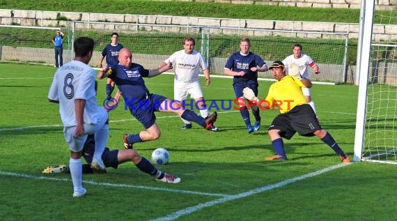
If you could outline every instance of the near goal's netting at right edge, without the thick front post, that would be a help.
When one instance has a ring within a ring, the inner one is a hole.
[[[363,160],[397,163],[397,43],[373,44],[370,67]]]

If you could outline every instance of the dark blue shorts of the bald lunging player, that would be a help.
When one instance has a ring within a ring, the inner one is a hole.
[[[142,123],[145,129],[150,128],[156,122],[155,112],[159,111],[159,107],[166,100],[166,97],[150,93],[148,99],[139,100],[134,107],[128,107],[132,116]]]

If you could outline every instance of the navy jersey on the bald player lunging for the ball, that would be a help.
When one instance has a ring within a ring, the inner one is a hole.
[[[142,78],[148,77],[148,69],[143,68],[138,63],[131,63],[129,67],[117,64],[110,66],[110,68],[111,75],[109,75],[109,78],[114,80],[128,105],[148,98],[149,90]]]

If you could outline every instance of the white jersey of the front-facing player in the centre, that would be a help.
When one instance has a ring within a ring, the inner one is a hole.
[[[201,70],[208,69],[203,55],[196,50],[193,50],[192,54],[186,54],[185,50],[180,50],[164,62],[171,62],[175,68],[175,82],[197,82],[200,68]]]

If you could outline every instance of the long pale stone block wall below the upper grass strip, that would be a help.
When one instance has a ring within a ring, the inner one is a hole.
[[[59,17],[61,17],[62,20],[59,20]],[[270,29],[274,31],[309,31],[313,33],[312,38],[329,38],[329,36],[327,36],[327,33],[349,33],[349,38],[358,38],[359,36],[359,24],[350,23],[244,19],[239,20],[210,17],[181,17],[170,15],[71,13],[42,10],[0,9],[0,24],[58,27],[67,26],[69,20],[89,22],[119,22],[134,24],[217,26],[226,28],[233,27],[240,29]],[[95,28],[95,26],[91,26],[90,28]],[[98,25],[98,29],[102,28],[110,30],[115,29],[115,26],[103,27],[103,25]],[[375,24],[373,34],[375,40],[397,39],[397,26],[387,24]]]

